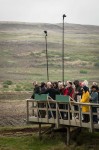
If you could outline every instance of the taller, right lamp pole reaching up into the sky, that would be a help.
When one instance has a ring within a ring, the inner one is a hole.
[[[63,14],[63,36],[62,36],[62,81],[64,84],[64,18],[66,17],[65,14]]]

